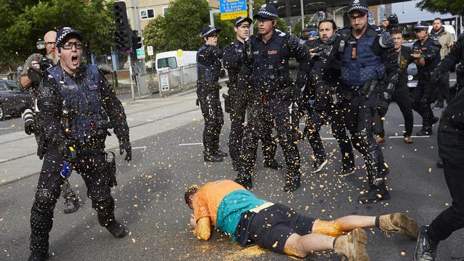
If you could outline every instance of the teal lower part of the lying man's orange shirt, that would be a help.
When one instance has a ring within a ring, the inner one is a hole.
[[[236,228],[242,213],[266,202],[248,190],[236,190],[228,193],[219,204],[216,227],[230,235],[232,242],[236,242]]]

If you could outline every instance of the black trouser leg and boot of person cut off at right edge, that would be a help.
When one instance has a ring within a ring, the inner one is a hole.
[[[428,235],[433,240],[445,240],[464,227],[464,121],[443,116],[438,126],[438,149],[453,202],[433,220]]]

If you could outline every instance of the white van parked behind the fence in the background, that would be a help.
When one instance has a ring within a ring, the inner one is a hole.
[[[155,57],[156,71],[163,68],[175,69],[192,63],[196,64],[196,51],[183,51],[182,57],[178,57],[178,51],[165,51],[156,53]]]

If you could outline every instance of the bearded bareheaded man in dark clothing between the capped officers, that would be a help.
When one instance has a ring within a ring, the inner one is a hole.
[[[329,122],[342,154],[338,175],[346,177],[355,173],[355,162],[353,147],[346,133],[341,100],[337,94],[341,87],[341,63],[336,60],[340,38],[334,34],[337,26],[333,20],[320,21],[318,26],[319,38],[311,43],[313,47],[309,50],[313,66],[308,79],[312,83],[306,84],[304,91],[306,99],[311,103],[305,128],[315,158],[311,173],[321,171],[328,163],[319,131],[324,122]]]

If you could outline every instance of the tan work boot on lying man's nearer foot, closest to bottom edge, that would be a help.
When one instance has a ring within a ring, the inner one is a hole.
[[[333,250],[345,257],[342,260],[348,258],[348,261],[369,261],[368,252],[365,251],[367,242],[368,235],[362,228],[356,228],[348,235],[337,237]]]

